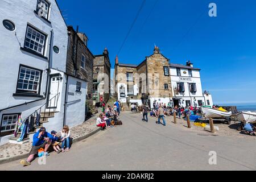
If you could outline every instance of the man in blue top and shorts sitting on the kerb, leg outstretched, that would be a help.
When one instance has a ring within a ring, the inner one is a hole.
[[[23,166],[30,165],[35,155],[38,154],[38,150],[44,148],[44,151],[47,151],[53,139],[55,139],[55,137],[47,133],[45,127],[41,127],[33,136],[32,148],[27,160],[21,160],[20,163],[23,164]],[[48,155],[48,152],[45,152],[45,155]]]

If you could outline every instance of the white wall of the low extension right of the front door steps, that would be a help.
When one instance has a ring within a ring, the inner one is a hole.
[[[76,82],[79,81],[81,85],[81,93],[76,92]],[[66,125],[69,127],[76,126],[85,121],[85,101],[87,82],[68,77],[68,90],[67,90],[67,113],[66,113]],[[79,100],[79,101],[77,101]],[[73,102],[75,101],[75,102]]]

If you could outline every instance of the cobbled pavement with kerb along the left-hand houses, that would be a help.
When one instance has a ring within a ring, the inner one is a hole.
[[[90,137],[91,135],[100,131],[100,128],[96,126],[96,118],[97,114],[81,125],[71,128],[71,138],[73,138],[73,143]],[[31,147],[32,142],[23,144],[3,144],[0,146],[0,164],[26,158],[31,150]]]

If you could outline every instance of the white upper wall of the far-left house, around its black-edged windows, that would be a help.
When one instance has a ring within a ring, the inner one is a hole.
[[[53,30],[52,47],[59,47],[60,53],[55,53],[52,51],[50,66],[52,68],[59,69],[60,71],[65,71],[68,42],[67,26],[55,1],[48,1],[51,3],[49,14],[49,21],[51,24],[47,23],[45,20],[34,13],[34,10],[36,10],[37,6],[37,1],[35,0],[2,0],[0,2],[0,84],[5,85],[0,87],[0,109],[39,99],[36,97],[13,96],[13,93],[16,92],[16,84],[18,80],[20,64],[24,64],[43,71],[40,95],[46,96],[46,69],[48,68],[48,60],[20,50],[20,47],[24,46],[27,24],[38,28],[38,30],[44,32],[44,34],[47,35],[46,51],[44,52],[44,56],[46,57],[49,57],[50,36],[51,30]],[[15,24],[14,31],[9,31],[3,27],[2,21],[5,19],[9,19]],[[63,95],[61,97],[63,97]],[[5,110],[0,113],[0,119],[2,119],[2,114],[11,113],[22,113],[22,119],[25,119],[28,117],[28,115],[32,114],[44,103],[46,103],[46,100],[19,106],[10,110]],[[56,122],[59,122],[59,120],[60,119],[56,119]],[[49,123],[46,124],[46,126],[47,125],[54,126],[55,123]],[[7,142],[7,138],[10,137],[13,136],[0,138],[0,144]]]

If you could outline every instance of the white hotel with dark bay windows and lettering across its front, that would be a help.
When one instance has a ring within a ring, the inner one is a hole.
[[[200,69],[190,61],[186,65],[170,64],[173,106],[212,106],[212,96],[204,93],[201,85]]]

